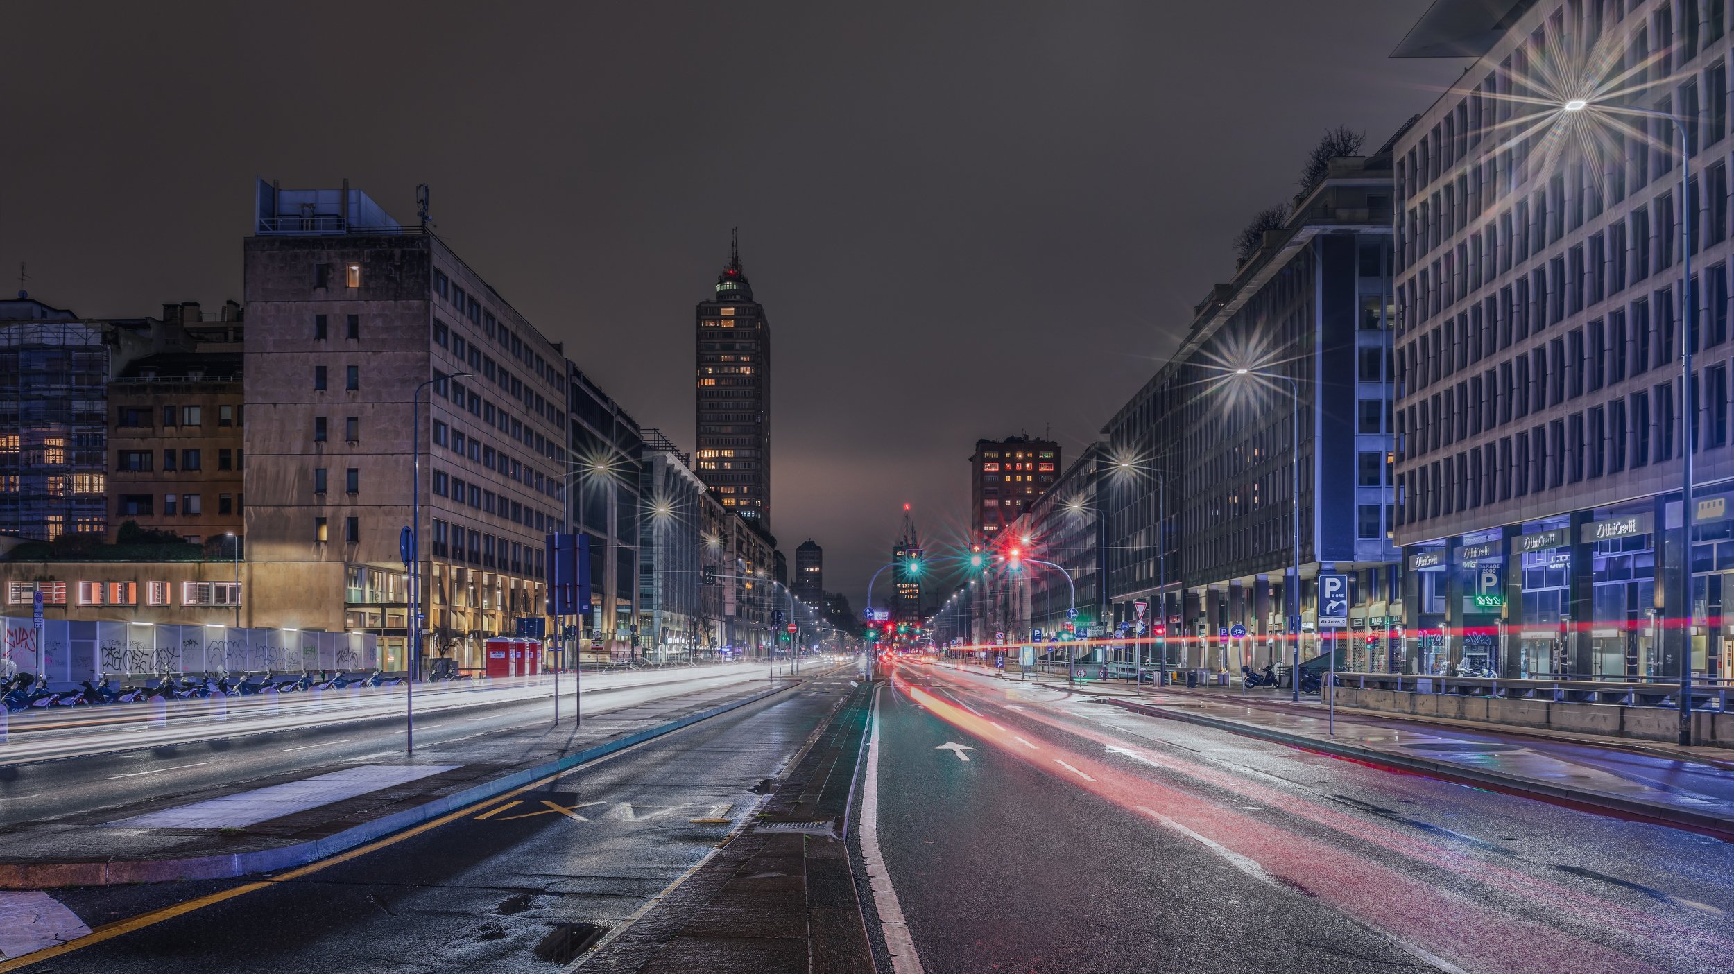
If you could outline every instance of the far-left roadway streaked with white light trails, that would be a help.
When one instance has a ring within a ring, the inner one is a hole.
[[[683,679],[676,671],[657,681],[619,686],[591,681],[593,688],[583,695],[584,716],[605,719],[610,711],[695,690],[737,683],[768,685],[766,672],[759,667],[728,667],[723,674],[692,671],[692,676]],[[562,700],[560,714],[570,726],[570,690]],[[541,695],[491,705],[418,711],[416,742],[421,747],[453,743],[551,721],[553,700]],[[248,782],[366,756],[394,757],[402,754],[402,747],[404,718],[399,709],[385,718],[314,723],[274,731],[241,730],[236,737],[208,737],[192,743],[134,747],[76,759],[0,766],[0,825],[118,808],[163,794],[191,792],[224,782]],[[0,745],[0,754],[5,754],[5,745]]]

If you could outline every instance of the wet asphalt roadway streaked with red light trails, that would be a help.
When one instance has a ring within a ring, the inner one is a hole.
[[[929,972],[1587,974],[1734,957],[1725,842],[1061,690],[896,676],[879,842]]]

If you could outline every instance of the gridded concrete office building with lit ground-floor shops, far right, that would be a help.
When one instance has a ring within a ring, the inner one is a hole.
[[[1398,55],[1476,61],[1396,146],[1399,666],[1734,676],[1727,10],[1436,7]]]

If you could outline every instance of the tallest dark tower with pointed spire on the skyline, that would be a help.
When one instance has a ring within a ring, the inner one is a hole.
[[[735,234],[716,298],[699,302],[699,478],[770,530],[770,326]]]

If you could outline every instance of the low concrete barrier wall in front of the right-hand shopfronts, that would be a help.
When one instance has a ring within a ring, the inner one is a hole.
[[[1550,700],[1507,700],[1503,697],[1463,697],[1455,693],[1411,693],[1408,690],[1337,688],[1337,704],[1384,714],[1448,718],[1516,728],[1557,730],[1630,737],[1637,740],[1675,742],[1680,714],[1670,707],[1620,707],[1614,704],[1568,704]],[[1734,714],[1698,711],[1692,737],[1711,747],[1734,747]]]

